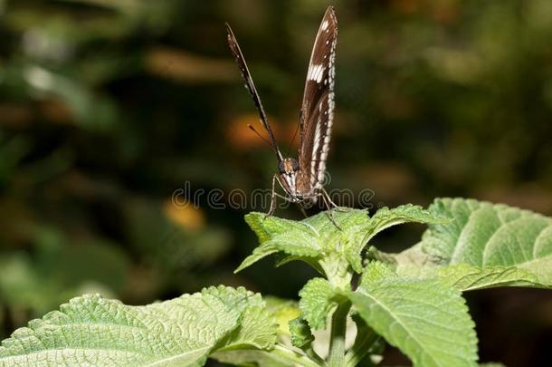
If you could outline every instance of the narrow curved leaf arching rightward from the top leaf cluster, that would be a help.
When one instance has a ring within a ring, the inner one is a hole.
[[[449,219],[411,204],[381,208],[369,220],[349,229],[345,256],[357,273],[362,272],[362,250],[379,232],[402,223],[448,223]]]

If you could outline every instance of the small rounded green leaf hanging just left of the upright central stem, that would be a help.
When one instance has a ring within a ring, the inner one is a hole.
[[[302,317],[313,330],[326,327],[328,314],[336,305],[336,291],[326,279],[314,278],[300,290],[299,307]]]

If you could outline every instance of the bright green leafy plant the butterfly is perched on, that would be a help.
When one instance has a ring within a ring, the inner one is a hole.
[[[302,260],[319,271],[298,304],[223,285],[147,306],[83,295],[15,331],[0,364],[370,366],[385,341],[416,366],[471,366],[477,337],[462,292],[552,285],[552,218],[519,208],[439,198],[372,217],[347,209],[334,212],[341,230],[325,213],[245,219],[261,245],[237,271],[272,254],[279,266]],[[429,225],[417,245],[400,254],[368,245],[406,222]],[[325,329],[322,358],[313,332]]]

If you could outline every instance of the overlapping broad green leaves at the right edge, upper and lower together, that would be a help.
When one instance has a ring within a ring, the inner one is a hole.
[[[460,198],[437,199],[430,209],[455,220],[430,227],[414,251],[396,256],[400,272],[440,277],[461,290],[551,283],[551,218]]]

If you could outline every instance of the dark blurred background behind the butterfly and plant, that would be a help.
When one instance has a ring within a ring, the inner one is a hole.
[[[233,25],[284,150],[328,2],[0,0],[0,336],[72,296],[148,304],[203,286],[294,298],[314,274],[271,260],[252,209],[176,207],[179,189],[269,188],[273,153],[228,50]],[[328,188],[375,207],[434,197],[552,215],[550,0],[335,0]],[[259,127],[259,129],[261,129]],[[287,150],[294,155],[297,141]],[[278,215],[300,217],[299,210]],[[424,227],[377,239],[385,251]],[[552,295],[467,295],[482,362],[550,365]],[[389,364],[407,363],[389,348]]]

